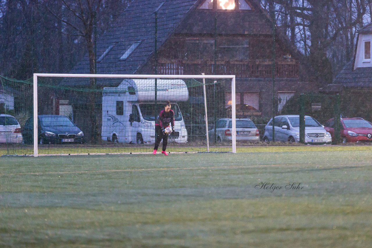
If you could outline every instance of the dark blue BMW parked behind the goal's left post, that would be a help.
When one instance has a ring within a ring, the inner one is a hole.
[[[33,142],[33,117],[30,117],[22,131],[23,142]],[[38,115],[39,144],[84,143],[84,133],[67,116]]]

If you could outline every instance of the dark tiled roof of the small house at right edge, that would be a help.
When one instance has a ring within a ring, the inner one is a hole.
[[[372,87],[372,67],[356,68],[353,71],[353,60],[350,60],[336,75],[333,84],[344,87]]]

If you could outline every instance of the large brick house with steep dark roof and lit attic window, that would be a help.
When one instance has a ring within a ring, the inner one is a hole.
[[[98,74],[154,74],[155,10],[158,74],[234,74],[237,115],[239,106],[254,109],[251,115],[272,114],[273,29],[258,0],[133,1],[97,41]],[[294,94],[317,92],[319,79],[279,30],[275,44],[279,111]],[[70,73],[89,73],[88,61],[82,59]],[[120,82],[97,80],[97,86]],[[231,90],[222,90],[228,108]]]

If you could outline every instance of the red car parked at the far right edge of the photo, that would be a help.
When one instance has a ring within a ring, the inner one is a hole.
[[[360,117],[341,118],[340,138],[346,142],[372,142],[372,123]],[[334,118],[324,125],[325,130],[331,133],[334,139]]]

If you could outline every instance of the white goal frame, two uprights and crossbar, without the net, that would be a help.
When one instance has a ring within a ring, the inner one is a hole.
[[[231,79],[231,141],[232,152],[236,153],[235,75],[151,75],[151,74],[33,74],[33,156],[38,157],[38,77],[70,78],[159,78],[159,79]],[[208,132],[208,129],[207,129]]]

